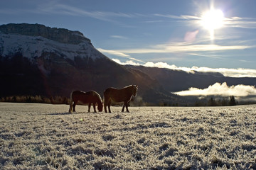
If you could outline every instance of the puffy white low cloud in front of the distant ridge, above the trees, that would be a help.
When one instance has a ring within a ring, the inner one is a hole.
[[[206,89],[191,87],[187,91],[178,91],[174,94],[181,96],[236,96],[245,97],[256,95],[255,86],[246,86],[243,84],[237,86],[228,86],[227,83],[215,83]]]

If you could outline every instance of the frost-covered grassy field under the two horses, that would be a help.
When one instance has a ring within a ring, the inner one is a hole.
[[[256,106],[0,103],[0,169],[256,169]]]

